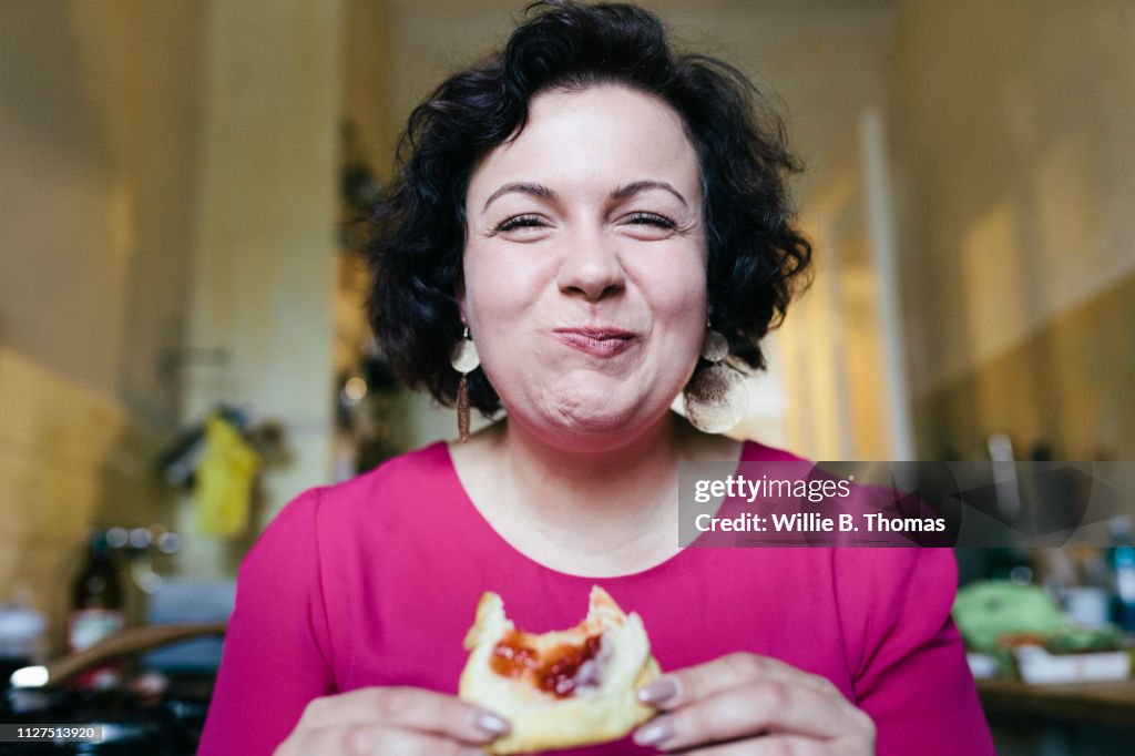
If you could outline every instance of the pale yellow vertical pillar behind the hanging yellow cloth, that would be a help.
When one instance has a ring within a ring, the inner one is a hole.
[[[185,366],[183,418],[225,402],[281,425],[292,459],[261,476],[251,537],[331,476],[343,16],[330,0],[205,5],[185,343],[226,356]],[[176,526],[195,532],[188,502]],[[179,566],[230,574],[246,545],[194,538]]]

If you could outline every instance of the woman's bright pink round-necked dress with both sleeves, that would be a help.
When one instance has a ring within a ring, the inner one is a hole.
[[[747,443],[742,460],[794,457]],[[735,650],[829,678],[880,756],[993,754],[933,548],[687,548],[644,572],[545,568],[480,515],[445,444],[292,502],[241,566],[202,756],[271,754],[313,698],[370,686],[457,690],[485,590],[518,627],[574,625],[592,585],[646,623],[663,670]],[[630,740],[571,751],[645,754]]]

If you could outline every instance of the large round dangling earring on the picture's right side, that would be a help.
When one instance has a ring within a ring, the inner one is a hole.
[[[701,359],[713,364],[693,373],[682,390],[686,418],[703,432],[725,432],[739,423],[749,409],[745,378],[724,362],[726,356],[729,341],[706,324]]]

